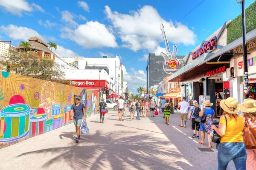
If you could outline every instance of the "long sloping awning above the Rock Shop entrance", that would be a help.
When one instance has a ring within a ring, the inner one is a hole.
[[[247,41],[252,40],[256,37],[256,29],[247,33]],[[184,82],[190,77],[198,76],[198,74],[207,73],[207,71],[213,70],[215,68],[223,66],[223,64],[207,64],[209,61],[229,61],[233,54],[228,53],[228,51],[233,48],[238,47],[242,44],[242,37],[230,42],[228,45],[221,48],[216,53],[204,53],[192,62],[189,62],[179,71],[168,77],[169,82]],[[222,56],[221,56],[222,55]],[[220,57],[221,56],[221,57]],[[205,76],[207,77],[207,76]]]

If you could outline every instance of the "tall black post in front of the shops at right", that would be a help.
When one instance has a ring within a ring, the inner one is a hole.
[[[244,56],[244,99],[248,98],[248,66],[247,66],[247,38],[246,38],[246,23],[245,23],[245,0],[236,0],[242,6],[242,32],[243,32],[243,56]]]

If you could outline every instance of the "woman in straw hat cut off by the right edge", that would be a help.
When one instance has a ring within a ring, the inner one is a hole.
[[[244,118],[244,127],[250,127],[250,131],[256,131],[256,105],[253,99],[245,99],[242,104],[239,105],[240,110],[243,112],[241,116]],[[248,122],[248,124],[247,124]],[[252,127],[252,128],[251,128]],[[256,133],[256,132],[255,132]],[[254,133],[254,134],[255,134]],[[254,136],[256,140],[256,136]],[[244,138],[246,138],[246,133],[244,133]],[[246,140],[244,139],[246,144]],[[247,147],[247,159],[246,159],[246,169],[256,170],[256,147]]]

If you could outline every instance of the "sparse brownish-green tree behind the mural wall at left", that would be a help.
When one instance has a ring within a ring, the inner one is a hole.
[[[38,58],[34,54],[22,54],[17,51],[9,51],[7,57],[0,58],[3,70],[9,69],[10,73],[27,77],[61,82],[64,72],[60,65],[52,59]]]

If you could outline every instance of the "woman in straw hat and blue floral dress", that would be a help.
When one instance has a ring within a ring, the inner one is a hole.
[[[204,138],[205,138],[205,133],[207,133],[208,137],[208,147],[212,149],[212,140],[210,136],[211,132],[211,127],[213,125],[213,117],[214,117],[214,110],[211,108],[213,103],[211,103],[209,100],[206,100],[203,105],[205,108],[203,108],[199,116],[203,117],[204,114],[206,115],[206,121],[204,123],[201,123],[200,130],[201,130],[201,135],[202,135],[202,141],[199,142],[199,144],[204,145]]]

